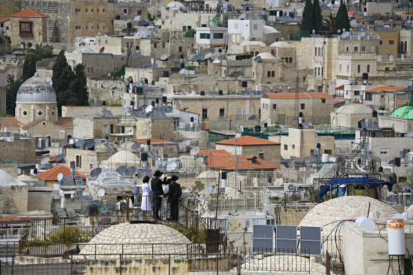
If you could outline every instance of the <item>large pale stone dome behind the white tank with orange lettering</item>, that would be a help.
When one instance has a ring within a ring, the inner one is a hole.
[[[357,219],[366,217],[370,203],[370,213],[373,210],[380,210],[380,219],[387,219],[397,214],[397,211],[377,199],[361,196],[345,196],[336,199],[330,199],[324,203],[319,203],[306,214],[299,226],[324,226],[323,235],[328,235],[337,223],[343,219]]]

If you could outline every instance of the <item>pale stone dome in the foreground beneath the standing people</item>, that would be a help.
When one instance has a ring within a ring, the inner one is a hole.
[[[109,217],[110,218],[110,217]],[[106,228],[89,241],[90,245],[85,245],[80,254],[91,254],[94,257],[96,243],[96,254],[114,254],[110,256],[97,255],[100,259],[119,259],[123,253],[142,253],[147,255],[125,255],[126,258],[151,258],[153,243],[168,243],[167,245],[153,245],[154,254],[160,253],[187,253],[187,243],[189,239],[178,230],[160,223],[120,223]],[[110,243],[110,244],[109,244]],[[131,244],[134,243],[134,244]],[[147,245],[142,245],[143,243]],[[175,245],[173,245],[175,244]],[[167,251],[165,251],[167,250]]]

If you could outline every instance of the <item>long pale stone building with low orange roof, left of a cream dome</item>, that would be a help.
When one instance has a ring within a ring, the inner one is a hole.
[[[328,122],[330,113],[334,111],[334,98],[324,93],[269,93],[262,96],[261,107],[261,123],[288,124],[301,112],[306,122],[315,124],[317,118],[324,118]]]

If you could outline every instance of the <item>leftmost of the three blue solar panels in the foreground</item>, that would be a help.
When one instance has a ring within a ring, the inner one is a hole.
[[[273,252],[274,225],[253,225],[253,252]]]

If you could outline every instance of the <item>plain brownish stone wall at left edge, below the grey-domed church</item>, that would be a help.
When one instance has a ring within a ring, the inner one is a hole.
[[[21,139],[13,142],[0,141],[0,155],[2,157],[17,157],[19,163],[34,163],[36,159],[36,140]]]

